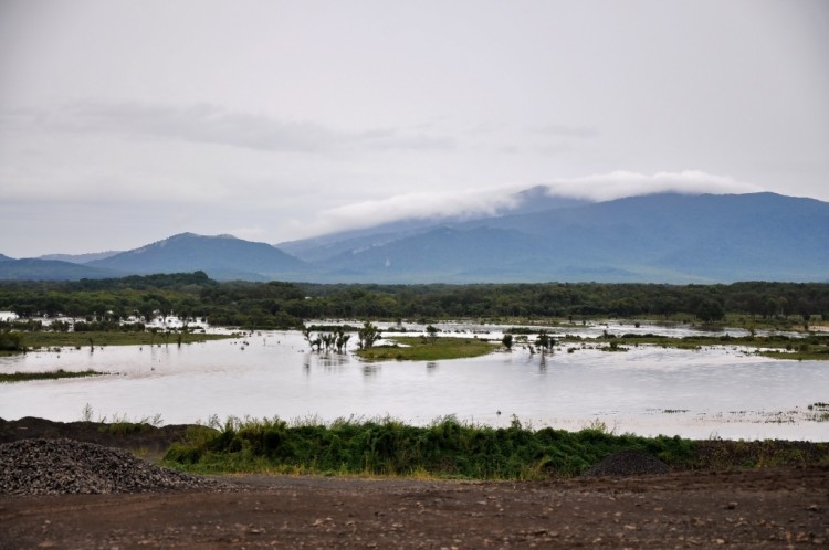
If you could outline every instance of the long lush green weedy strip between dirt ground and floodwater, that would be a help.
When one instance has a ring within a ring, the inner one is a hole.
[[[164,464],[201,474],[269,472],[460,479],[576,476],[602,458],[640,449],[674,467],[692,467],[694,446],[680,437],[615,435],[601,427],[534,431],[471,425],[449,416],[429,426],[392,419],[288,424],[230,419],[199,426],[172,445]]]

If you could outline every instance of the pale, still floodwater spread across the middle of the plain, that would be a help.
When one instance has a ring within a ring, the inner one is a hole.
[[[440,328],[500,340],[503,327]],[[583,336],[692,331],[553,330]],[[0,372],[55,369],[111,374],[0,384],[0,417],[77,421],[87,405],[92,420],[160,415],[166,424],[234,415],[326,422],[391,416],[424,425],[454,415],[495,426],[518,419],[534,429],[604,424],[641,435],[829,441],[829,422],[809,410],[829,402],[829,363],[766,359],[736,347],[608,352],[567,345],[542,356],[516,343],[513,351],[473,359],[366,362],[350,353],[311,352],[295,331],[263,331],[181,347],[63,348],[0,358]]]

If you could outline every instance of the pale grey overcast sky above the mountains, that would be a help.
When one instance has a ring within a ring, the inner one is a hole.
[[[0,253],[829,201],[825,0],[0,0]]]

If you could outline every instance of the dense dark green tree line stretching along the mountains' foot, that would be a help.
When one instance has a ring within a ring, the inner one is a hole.
[[[216,282],[203,272],[80,282],[0,283],[0,310],[23,318],[65,316],[85,322],[149,322],[172,315],[195,322],[300,328],[308,319],[451,318],[581,320],[686,318],[829,319],[829,284],[728,285],[607,283],[311,284]]]

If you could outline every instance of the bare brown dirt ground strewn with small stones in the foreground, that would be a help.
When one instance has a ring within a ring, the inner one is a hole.
[[[234,490],[0,498],[0,548],[829,546],[829,469],[454,483],[231,478]]]

